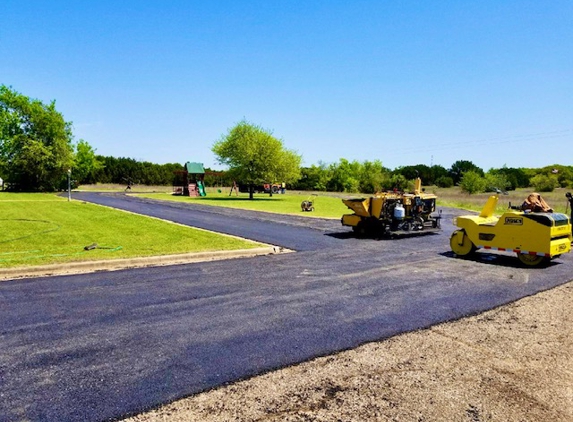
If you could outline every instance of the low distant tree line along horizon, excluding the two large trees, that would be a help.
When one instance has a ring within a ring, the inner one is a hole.
[[[115,158],[97,155],[103,165],[78,180],[80,184],[114,183],[175,186],[185,183],[183,164],[154,164],[132,158]],[[228,171],[206,168],[205,186],[229,187],[236,175]],[[425,186],[448,188],[460,186],[469,193],[510,191],[517,188],[533,188],[550,192],[555,188],[573,188],[573,166],[554,165],[543,168],[490,169],[487,172],[471,161],[459,160],[450,168],[440,165],[413,166],[389,169],[381,161],[348,161],[320,163],[300,168],[300,177],[287,184],[291,190],[328,191],[347,193],[375,193],[385,190],[408,190],[412,181],[420,177]],[[271,182],[270,180],[264,180]],[[280,182],[273,180],[272,182]]]

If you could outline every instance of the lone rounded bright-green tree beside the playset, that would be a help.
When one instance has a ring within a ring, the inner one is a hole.
[[[234,180],[250,186],[250,199],[255,184],[290,183],[300,178],[302,157],[285,149],[271,131],[245,120],[216,141],[211,150],[220,164],[229,166]]]

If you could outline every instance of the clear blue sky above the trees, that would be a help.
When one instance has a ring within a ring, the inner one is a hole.
[[[0,84],[158,164],[246,119],[304,165],[572,165],[573,2],[3,0]]]

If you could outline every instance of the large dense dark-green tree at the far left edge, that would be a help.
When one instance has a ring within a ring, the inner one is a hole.
[[[0,85],[0,172],[18,190],[54,191],[73,164],[72,124],[56,110]]]

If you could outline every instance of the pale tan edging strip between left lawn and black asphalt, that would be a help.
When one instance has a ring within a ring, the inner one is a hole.
[[[88,274],[98,271],[117,271],[130,268],[161,267],[167,265],[193,264],[197,262],[224,259],[253,258],[261,255],[275,255],[294,252],[279,246],[266,246],[233,251],[197,252],[177,255],[160,255],[140,258],[68,262],[37,267],[0,269],[0,281],[21,278],[49,277],[56,275]]]

